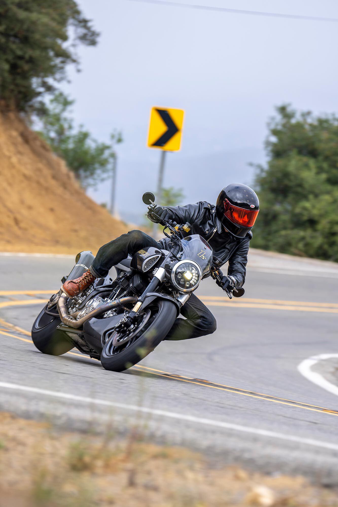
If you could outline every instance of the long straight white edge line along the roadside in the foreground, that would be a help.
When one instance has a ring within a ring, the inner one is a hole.
[[[20,384],[12,384],[9,382],[0,382],[0,387],[3,387],[4,389],[13,389],[13,390],[43,394],[46,396],[53,396],[55,398],[61,398],[64,400],[72,400],[72,401],[76,401],[76,402],[90,403],[90,404],[94,404],[94,405],[104,405],[104,406],[108,406],[108,407],[116,407],[116,408],[121,408],[121,409],[125,409],[125,410],[144,412],[147,414],[153,414],[153,415],[162,416],[162,417],[170,417],[172,419],[179,419],[182,421],[189,421],[189,422],[194,422],[194,423],[198,423],[198,424],[216,426],[219,428],[232,429],[235,431],[242,431],[245,433],[253,433],[253,434],[256,434],[256,435],[259,435],[262,437],[270,437],[270,438],[274,438],[274,439],[287,440],[289,442],[297,442],[298,444],[306,444],[306,445],[310,445],[310,446],[321,447],[323,449],[330,449],[333,451],[338,451],[337,444],[331,444],[329,442],[321,442],[319,440],[296,437],[294,435],[278,433],[278,432],[269,431],[266,429],[252,428],[250,426],[241,426],[239,424],[233,424],[230,422],[214,421],[212,419],[205,419],[205,418],[195,417],[195,416],[186,415],[186,414],[178,414],[177,412],[168,412],[165,410],[150,409],[150,408],[146,408],[146,407],[138,407],[137,405],[127,405],[125,403],[110,402],[107,400],[99,400],[99,399],[95,399],[95,398],[89,398],[86,396],[78,396],[76,394],[68,394],[68,393],[60,392],[60,391],[50,391],[47,389],[40,389],[39,387],[28,387],[28,386],[23,386]]]

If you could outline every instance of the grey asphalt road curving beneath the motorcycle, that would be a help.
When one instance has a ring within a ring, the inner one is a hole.
[[[239,301],[202,282],[216,333],[163,342],[139,367],[112,373],[86,356],[43,355],[27,334],[48,298],[30,291],[57,289],[74,261],[0,256],[0,410],[121,434],[137,425],[217,462],[338,485],[338,398],[297,370],[338,352],[338,269],[276,263],[251,262]]]

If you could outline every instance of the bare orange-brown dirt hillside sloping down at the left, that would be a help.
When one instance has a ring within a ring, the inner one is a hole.
[[[0,113],[0,251],[76,253],[126,232],[16,113]]]

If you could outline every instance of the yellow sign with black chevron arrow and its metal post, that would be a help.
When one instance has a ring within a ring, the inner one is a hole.
[[[148,147],[161,150],[157,180],[156,200],[161,204],[163,175],[166,152],[177,152],[181,148],[184,111],[152,107],[150,113]],[[153,235],[156,236],[157,226],[154,224]]]

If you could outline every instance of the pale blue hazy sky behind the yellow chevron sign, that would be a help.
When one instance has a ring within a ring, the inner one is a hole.
[[[102,35],[95,48],[80,49],[82,72],[70,70],[72,83],[65,89],[76,99],[76,120],[97,138],[108,140],[113,128],[123,131],[117,199],[122,214],[128,207],[142,210],[142,192],[156,187],[159,152],[146,146],[153,105],[185,110],[182,150],[168,155],[164,183],[184,187],[186,201],[214,201],[230,177],[248,179],[246,162],[263,160],[266,122],[275,105],[337,111],[338,23],[130,0],[78,3]],[[338,18],[336,0],[190,3]],[[107,201],[109,183],[91,195]]]

